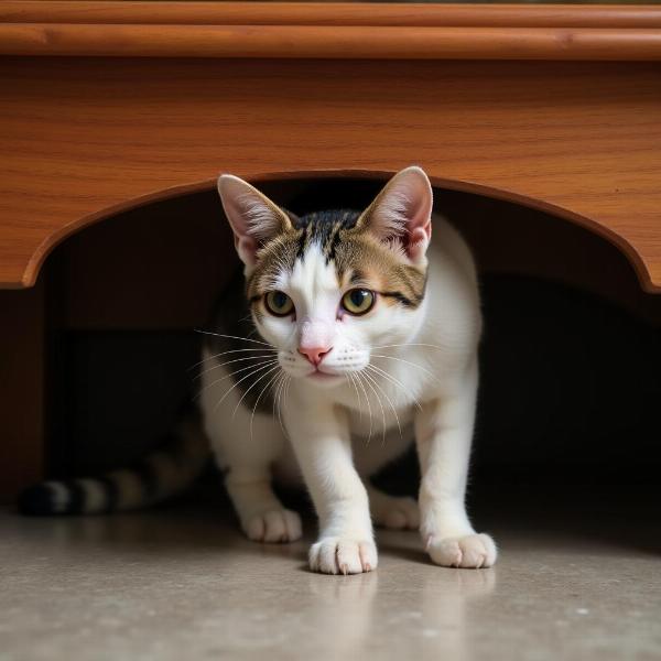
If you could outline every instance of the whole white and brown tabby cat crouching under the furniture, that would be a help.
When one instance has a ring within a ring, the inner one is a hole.
[[[465,508],[481,333],[476,268],[460,235],[433,214],[424,171],[402,170],[362,212],[297,217],[229,174],[218,192],[243,272],[204,336],[198,413],[137,468],[43,483],[23,496],[23,511],[162,500],[195,478],[210,444],[251,540],[300,539],[301,519],[272,479],[306,486],[319,524],[315,572],[376,570],[372,523],[419,529],[438,565],[491,566],[494,540]],[[418,501],[376,489],[369,476],[413,442]]]

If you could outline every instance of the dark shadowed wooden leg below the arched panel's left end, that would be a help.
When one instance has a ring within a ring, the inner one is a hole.
[[[44,286],[0,292],[0,502],[43,477]]]

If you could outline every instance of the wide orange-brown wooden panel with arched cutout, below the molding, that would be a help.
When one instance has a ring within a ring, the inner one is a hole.
[[[78,227],[220,171],[423,165],[607,236],[661,289],[652,64],[0,61],[0,282]]]

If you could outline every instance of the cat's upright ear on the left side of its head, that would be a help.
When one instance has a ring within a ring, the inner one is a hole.
[[[275,203],[238,176],[221,174],[218,193],[235,247],[247,267],[254,266],[260,246],[292,229],[290,217]]]

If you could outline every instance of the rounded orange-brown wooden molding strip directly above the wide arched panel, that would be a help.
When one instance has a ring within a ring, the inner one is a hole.
[[[0,55],[655,61],[661,30],[1,23]]]

